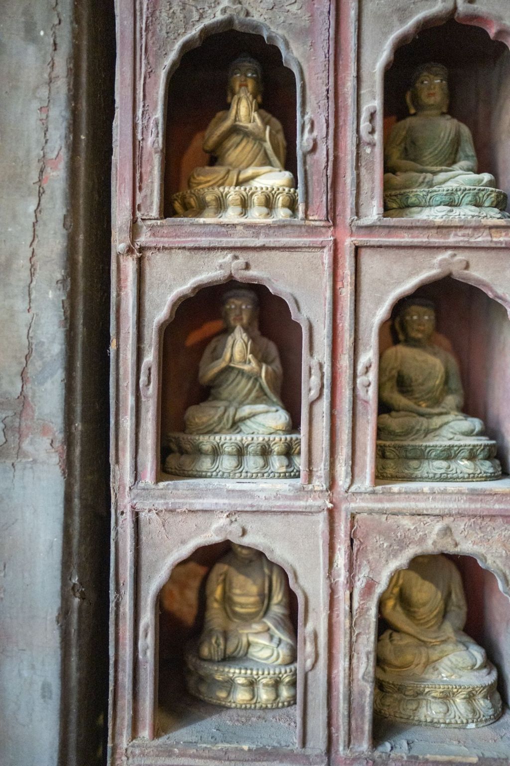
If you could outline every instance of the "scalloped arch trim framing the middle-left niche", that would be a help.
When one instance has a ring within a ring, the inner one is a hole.
[[[161,372],[163,362],[163,338],[164,331],[174,319],[178,306],[192,298],[204,287],[225,284],[235,279],[247,284],[261,284],[280,298],[282,298],[291,311],[291,319],[297,322],[302,332],[302,358],[301,358],[301,480],[307,483],[308,473],[308,435],[310,423],[310,404],[314,400],[310,396],[310,387],[317,388],[313,381],[315,366],[311,364],[311,329],[310,319],[300,313],[297,300],[287,290],[282,290],[274,284],[267,273],[252,271],[245,260],[239,260],[236,256],[228,256],[219,261],[218,270],[206,274],[204,277],[196,277],[186,285],[175,290],[168,298],[163,311],[154,319],[152,328],[151,355],[145,358],[141,365],[140,391],[141,398],[149,400],[149,427],[148,427],[148,476],[142,480],[155,483],[158,480],[159,452],[161,444]],[[312,394],[314,391],[312,391]],[[319,392],[317,391],[317,396]]]

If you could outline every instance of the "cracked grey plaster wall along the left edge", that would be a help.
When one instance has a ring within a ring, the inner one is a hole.
[[[0,18],[0,763],[58,762],[71,0]]]

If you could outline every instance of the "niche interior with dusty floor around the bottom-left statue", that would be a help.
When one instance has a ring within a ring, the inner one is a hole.
[[[244,540],[241,540],[244,545]],[[253,546],[255,547],[255,546]],[[189,744],[295,748],[298,740],[297,705],[280,709],[229,709],[211,705],[187,692],[184,647],[200,635],[206,608],[206,579],[213,565],[229,551],[230,542],[204,545],[171,570],[158,597],[158,710],[154,733],[165,741]],[[302,597],[288,585],[291,621],[298,636]],[[298,672],[298,686],[300,684]]]

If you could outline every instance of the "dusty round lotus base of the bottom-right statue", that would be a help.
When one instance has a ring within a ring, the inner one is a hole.
[[[375,671],[374,709],[401,723],[441,728],[487,726],[499,719],[502,702],[496,691],[497,674],[473,671],[466,679],[402,678]]]

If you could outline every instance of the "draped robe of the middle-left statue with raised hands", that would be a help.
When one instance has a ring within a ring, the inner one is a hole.
[[[207,385],[204,373],[223,355],[228,333],[213,338],[200,361],[199,381]],[[291,416],[280,399],[281,362],[274,343],[254,331],[252,354],[261,362],[257,378],[235,367],[216,375],[210,396],[188,408],[184,415],[187,434],[288,434]]]

